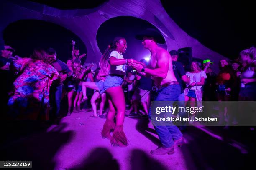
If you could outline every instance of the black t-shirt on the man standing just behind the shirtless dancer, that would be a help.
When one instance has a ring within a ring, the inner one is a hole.
[[[180,63],[178,61],[172,61],[172,69],[173,69],[173,72],[174,72],[174,75],[175,75],[177,81],[179,82],[181,93],[183,93],[185,83],[183,82],[181,77],[183,75],[186,75],[184,67],[183,67],[182,63]]]

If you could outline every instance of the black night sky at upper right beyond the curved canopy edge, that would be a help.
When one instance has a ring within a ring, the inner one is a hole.
[[[161,0],[169,16],[187,34],[229,58],[256,45],[255,5],[252,1]]]

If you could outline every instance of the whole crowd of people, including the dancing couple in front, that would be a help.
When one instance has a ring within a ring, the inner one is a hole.
[[[112,145],[127,146],[123,131],[125,115],[151,118],[151,89],[158,89],[154,101],[178,101],[180,106],[202,105],[202,100],[252,100],[256,99],[256,49],[251,47],[240,53],[239,60],[231,63],[220,60],[220,72],[215,74],[210,59],[202,63],[191,62],[191,70],[184,70],[178,62],[175,50],[167,52],[159,47],[161,35],[147,29],[137,35],[144,48],[151,52],[150,61],[125,59],[127,42],[116,37],[102,55],[99,68],[83,67],[81,58],[72,40],[72,57],[67,63],[57,58],[53,48],[35,49],[31,57],[11,57],[14,49],[5,45],[1,49],[0,70],[4,90],[1,91],[6,117],[14,120],[55,120],[61,118],[61,100],[67,96],[68,109],[65,116],[74,112],[85,112],[82,103],[90,101],[93,115],[105,118],[102,138]],[[127,71],[128,70],[128,71]],[[93,89],[92,97],[88,90]],[[100,112],[97,113],[97,105]],[[104,113],[105,108],[108,108]],[[230,115],[228,108],[219,108],[220,124],[224,116]],[[225,113],[226,112],[226,113]],[[186,113],[179,113],[186,114]],[[228,121],[234,121],[230,117]],[[185,122],[184,122],[185,123]],[[162,147],[151,154],[174,153],[174,146],[183,143],[182,127],[173,124],[154,125]]]

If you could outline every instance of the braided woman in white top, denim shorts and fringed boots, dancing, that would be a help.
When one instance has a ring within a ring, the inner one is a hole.
[[[125,64],[131,63],[132,60],[123,58],[122,54],[126,49],[126,40],[123,37],[116,37],[100,59],[100,68],[102,70],[105,70],[110,64],[109,75],[103,84],[104,90],[109,96],[109,111],[101,135],[102,138],[110,139],[112,145],[123,147],[128,145],[128,141],[123,132],[125,97],[121,85],[125,76]],[[114,123],[115,115],[116,123]],[[113,136],[110,135],[112,130]]]

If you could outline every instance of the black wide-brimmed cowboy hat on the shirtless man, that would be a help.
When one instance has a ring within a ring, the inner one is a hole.
[[[154,28],[147,28],[146,30],[141,31],[135,36],[137,40],[143,40],[143,37],[153,37],[159,44],[164,44],[164,37],[161,35],[161,32]]]

